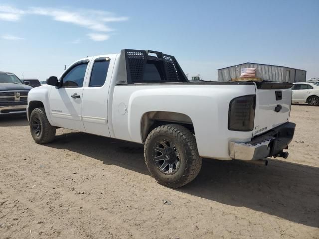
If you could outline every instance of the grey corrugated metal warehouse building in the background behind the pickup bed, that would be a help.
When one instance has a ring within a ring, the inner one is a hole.
[[[305,70],[251,62],[218,69],[218,81],[231,81],[231,79],[240,78],[243,68],[256,68],[255,77],[264,81],[306,82],[307,71]]]

